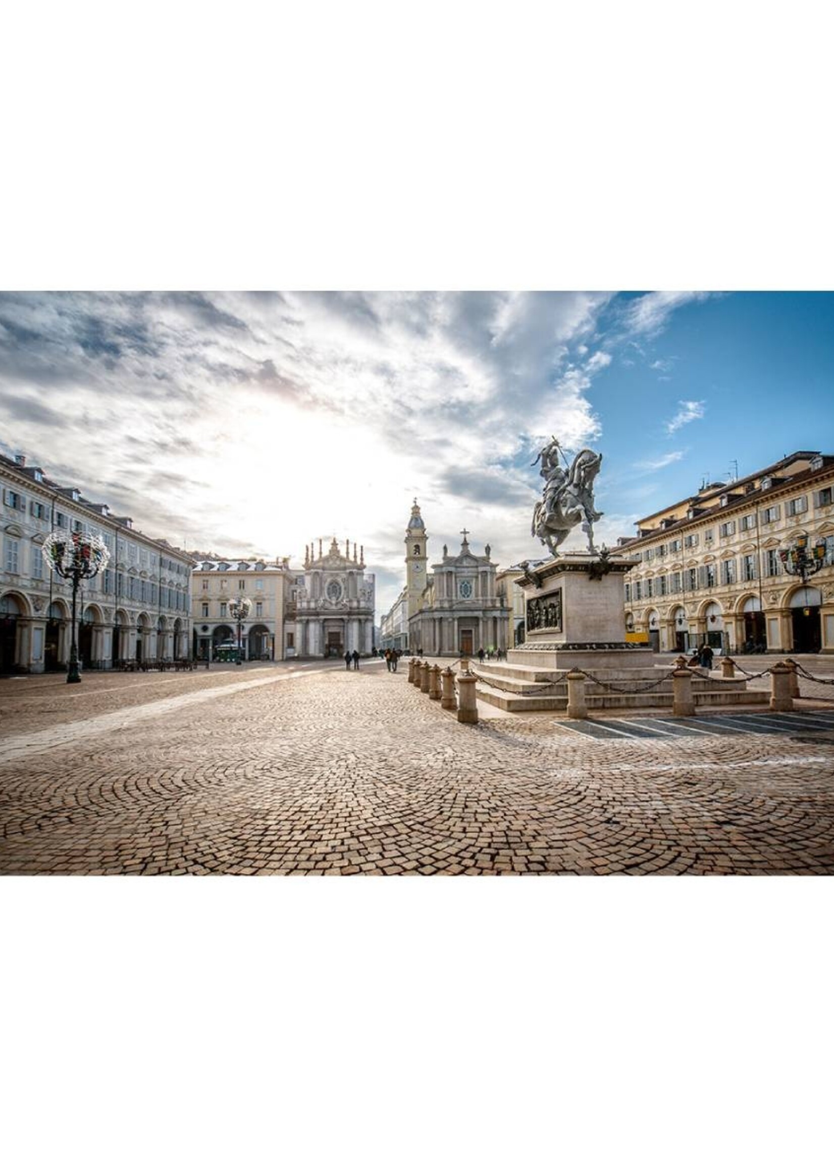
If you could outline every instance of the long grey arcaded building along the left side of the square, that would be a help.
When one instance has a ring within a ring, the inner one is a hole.
[[[110,552],[105,571],[78,592],[82,668],[189,655],[189,555],[134,530],[131,518],[111,515],[77,487],[55,482],[42,467],[28,467],[22,454],[0,455],[0,672],[67,668],[72,588],[41,551],[55,530],[97,534]]]

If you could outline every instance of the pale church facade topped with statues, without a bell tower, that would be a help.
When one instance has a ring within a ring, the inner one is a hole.
[[[301,580],[301,582],[299,582]],[[364,548],[334,538],[327,552],[318,540],[305,548],[304,573],[298,572],[285,603],[287,655],[339,657],[374,649],[375,578],[364,567]],[[290,651],[291,649],[291,651]]]

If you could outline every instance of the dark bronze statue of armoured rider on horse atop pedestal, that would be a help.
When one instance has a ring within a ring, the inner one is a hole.
[[[603,455],[583,448],[569,468],[568,460],[564,459],[563,469],[560,466],[560,454],[564,459],[562,447],[554,438],[536,457],[536,462],[540,457],[542,460],[538,473],[544,478],[544,487],[533,512],[533,534],[557,558],[560,544],[582,523],[582,529],[588,534],[588,547],[596,555],[593,524],[603,517],[603,512],[593,508],[593,480],[599,474]]]

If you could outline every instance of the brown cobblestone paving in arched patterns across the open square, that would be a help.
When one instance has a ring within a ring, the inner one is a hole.
[[[141,704],[134,689],[118,728],[92,700],[57,733],[41,721],[51,738],[8,734],[0,872],[834,873],[830,735],[463,726],[405,669],[370,663],[185,680]],[[15,700],[4,691],[13,724]]]

